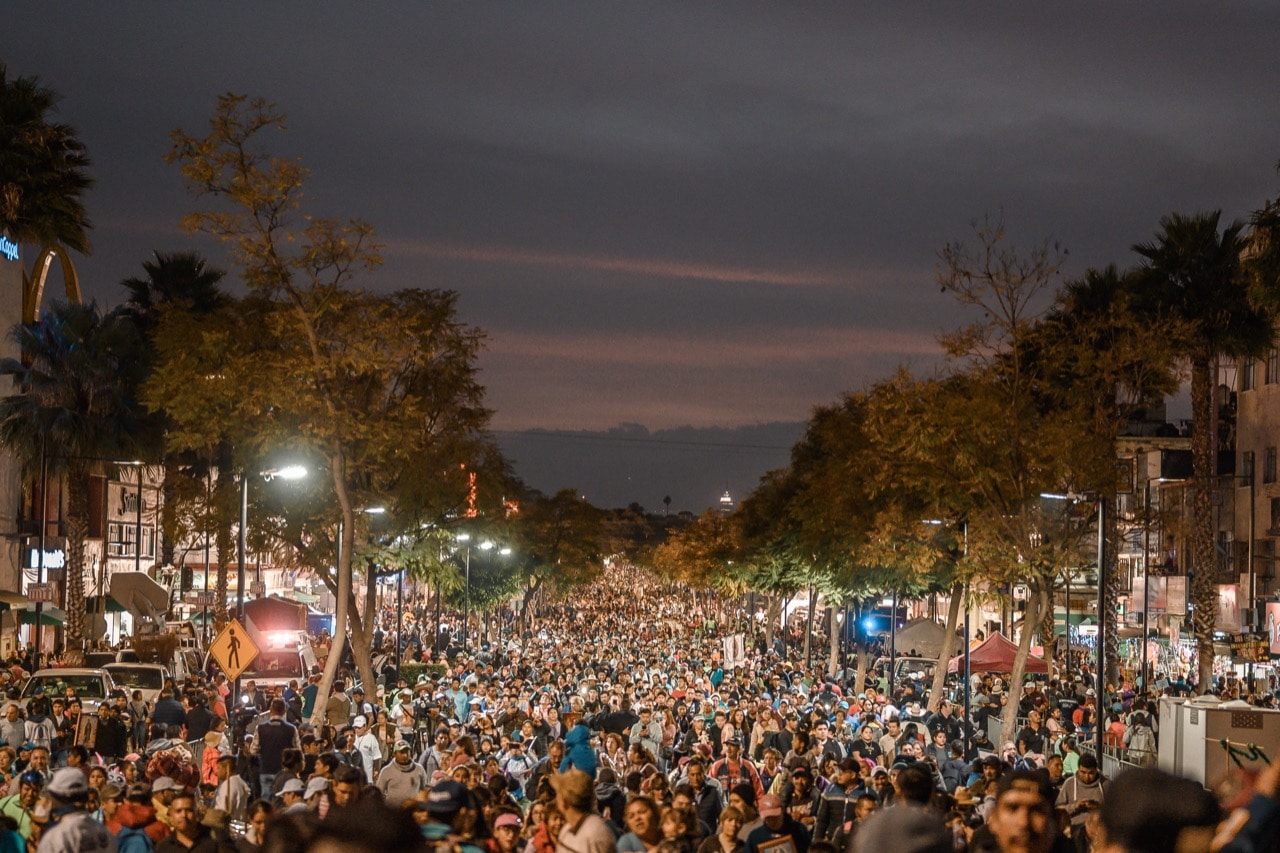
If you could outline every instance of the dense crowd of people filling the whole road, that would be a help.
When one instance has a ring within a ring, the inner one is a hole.
[[[320,715],[319,672],[250,681],[247,702],[216,672],[150,703],[108,697],[87,726],[93,710],[72,686],[19,695],[35,661],[15,653],[0,675],[0,853],[1280,849],[1280,762],[1231,811],[1151,766],[1102,776],[1083,748],[1093,725],[1153,763],[1140,758],[1158,706],[1144,697],[1117,690],[1098,720],[1088,681],[1051,672],[997,747],[984,721],[1002,704],[998,676],[968,685],[968,721],[913,679],[855,692],[851,674],[828,678],[751,634],[745,663],[727,667],[736,629],[700,601],[609,569],[412,683],[394,652],[435,656],[417,633],[433,622],[410,613],[401,643],[384,611],[379,684],[343,669]]]

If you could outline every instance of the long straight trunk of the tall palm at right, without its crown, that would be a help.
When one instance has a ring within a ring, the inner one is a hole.
[[[1192,603],[1199,667],[1196,690],[1213,681],[1217,573],[1213,557],[1213,359],[1192,365]]]

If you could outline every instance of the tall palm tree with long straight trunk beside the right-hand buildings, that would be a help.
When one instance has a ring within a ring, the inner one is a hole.
[[[1199,652],[1198,688],[1213,675],[1217,558],[1213,551],[1216,441],[1211,433],[1219,359],[1260,357],[1275,346],[1275,280],[1251,288],[1242,272],[1247,241],[1233,222],[1219,231],[1221,211],[1170,214],[1151,242],[1133,247],[1143,257],[1140,286],[1151,305],[1176,318],[1184,330],[1179,353],[1192,373],[1192,581],[1193,626]],[[1267,292],[1270,291],[1270,292]]]

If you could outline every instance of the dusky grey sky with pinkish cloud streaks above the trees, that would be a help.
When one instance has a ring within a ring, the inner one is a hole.
[[[364,284],[461,293],[503,432],[803,421],[936,368],[964,319],[937,250],[977,216],[1061,241],[1075,274],[1280,187],[1262,1],[17,3],[0,38],[93,158],[100,302],[156,248],[221,263],[178,229],[168,132],[262,95],[312,210],[385,242]]]

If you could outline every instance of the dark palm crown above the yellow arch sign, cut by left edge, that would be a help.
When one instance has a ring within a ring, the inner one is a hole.
[[[0,64],[0,231],[37,247],[31,278],[23,268],[23,319],[36,319],[49,265],[61,259],[67,293],[79,301],[76,269],[65,248],[88,254],[90,222],[81,196],[93,186],[84,146],[68,124],[50,120],[58,93],[35,77],[9,78]]]

